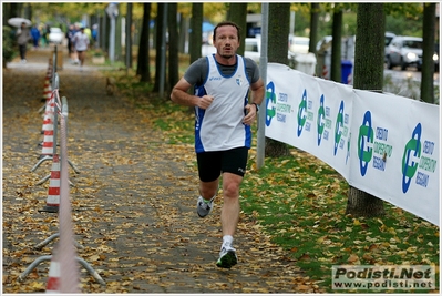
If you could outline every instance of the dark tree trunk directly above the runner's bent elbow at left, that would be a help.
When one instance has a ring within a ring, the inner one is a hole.
[[[169,2],[167,8],[168,40],[178,40],[178,23],[176,21],[177,3]],[[173,88],[178,82],[178,42],[168,42],[168,85]],[[169,89],[169,88],[167,88]],[[169,98],[169,95],[167,95]]]

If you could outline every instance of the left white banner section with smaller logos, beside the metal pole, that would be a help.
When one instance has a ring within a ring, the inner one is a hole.
[[[269,63],[267,71],[266,136],[319,157],[348,180],[352,89],[282,64]]]

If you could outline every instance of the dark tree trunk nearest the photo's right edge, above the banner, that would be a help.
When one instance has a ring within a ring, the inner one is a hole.
[[[434,24],[435,3],[423,3],[421,99],[431,104],[434,103]]]

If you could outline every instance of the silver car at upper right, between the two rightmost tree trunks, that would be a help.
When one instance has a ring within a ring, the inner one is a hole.
[[[410,65],[418,67],[422,59],[422,38],[397,35],[387,49],[387,68],[400,65],[405,70]]]

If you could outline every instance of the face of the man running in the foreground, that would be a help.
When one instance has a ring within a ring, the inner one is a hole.
[[[223,25],[216,29],[216,40],[214,41],[217,53],[224,59],[229,59],[236,54],[239,48],[238,32],[233,25]]]

